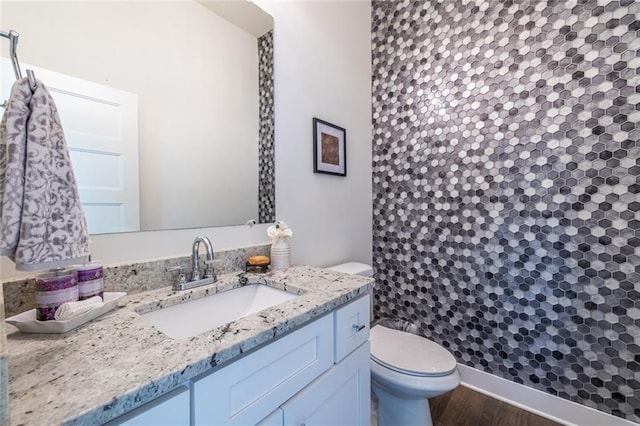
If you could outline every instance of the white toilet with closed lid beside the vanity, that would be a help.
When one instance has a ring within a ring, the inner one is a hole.
[[[357,262],[327,269],[373,275],[369,265]],[[459,384],[456,359],[442,346],[382,325],[371,328],[371,388],[378,397],[379,426],[431,426],[428,398]]]

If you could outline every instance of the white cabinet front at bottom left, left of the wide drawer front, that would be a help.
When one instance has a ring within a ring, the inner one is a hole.
[[[161,396],[109,423],[107,426],[189,426],[191,397],[187,386]]]

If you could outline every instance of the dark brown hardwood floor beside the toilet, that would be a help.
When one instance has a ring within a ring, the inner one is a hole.
[[[372,426],[377,425],[375,398]],[[429,400],[433,426],[561,426],[464,386]],[[397,425],[421,426],[421,425]]]

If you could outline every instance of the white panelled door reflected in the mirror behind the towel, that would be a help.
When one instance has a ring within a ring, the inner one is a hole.
[[[138,97],[90,81],[23,63],[46,82],[65,132],[89,232],[140,230]],[[13,84],[2,58],[0,98]]]

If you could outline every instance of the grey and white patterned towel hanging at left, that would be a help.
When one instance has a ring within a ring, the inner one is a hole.
[[[15,82],[0,122],[0,255],[34,271],[84,263],[87,223],[53,98]]]

